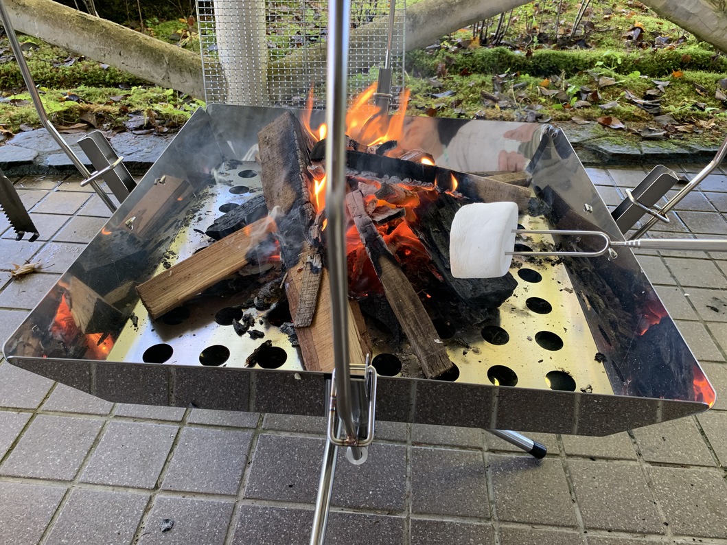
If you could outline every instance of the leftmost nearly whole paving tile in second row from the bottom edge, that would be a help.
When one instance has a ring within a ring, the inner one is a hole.
[[[0,465],[1,475],[72,480],[103,421],[39,414]]]

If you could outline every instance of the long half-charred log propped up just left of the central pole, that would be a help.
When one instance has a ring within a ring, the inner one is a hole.
[[[334,368],[330,287],[324,267],[311,265],[320,259],[316,244],[316,210],[310,201],[311,142],[300,121],[284,113],[258,134],[260,144],[260,177],[268,209],[279,207],[278,233],[281,257],[287,270],[286,295],[290,312],[300,320],[294,323],[300,342],[303,364],[309,371],[332,371]],[[318,258],[316,258],[318,255]],[[315,287],[318,287],[316,290]],[[365,335],[356,322],[358,303],[350,302],[348,335],[350,363],[366,361]],[[299,315],[298,310],[302,307]],[[359,311],[360,313],[360,311]],[[310,320],[310,325],[305,324]]]

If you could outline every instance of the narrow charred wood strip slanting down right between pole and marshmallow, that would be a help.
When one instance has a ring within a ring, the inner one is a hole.
[[[435,379],[454,366],[449,360],[446,348],[439,338],[424,305],[411,287],[395,257],[386,247],[384,239],[366,214],[364,196],[359,191],[346,195],[346,204],[356,230],[364,243],[366,253],[374,265],[384,294],[391,305],[401,328],[411,344],[411,350],[419,358],[427,379]]]

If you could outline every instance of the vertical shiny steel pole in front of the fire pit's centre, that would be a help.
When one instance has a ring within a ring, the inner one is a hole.
[[[348,369],[348,266],[346,264],[346,95],[350,0],[331,0],[328,8],[328,84],[326,86],[326,219],[328,267],[331,280],[333,354],[336,369],[337,409],[345,437],[355,438]],[[356,449],[358,450],[358,449]],[[359,459],[361,455],[354,458]]]

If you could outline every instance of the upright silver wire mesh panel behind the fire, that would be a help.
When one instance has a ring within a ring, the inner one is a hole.
[[[352,0],[349,95],[384,66],[389,0]],[[205,99],[302,108],[310,87],[325,100],[328,3],[324,0],[197,0]],[[404,2],[391,48],[393,93],[403,88]],[[392,109],[397,102],[393,102]]]

